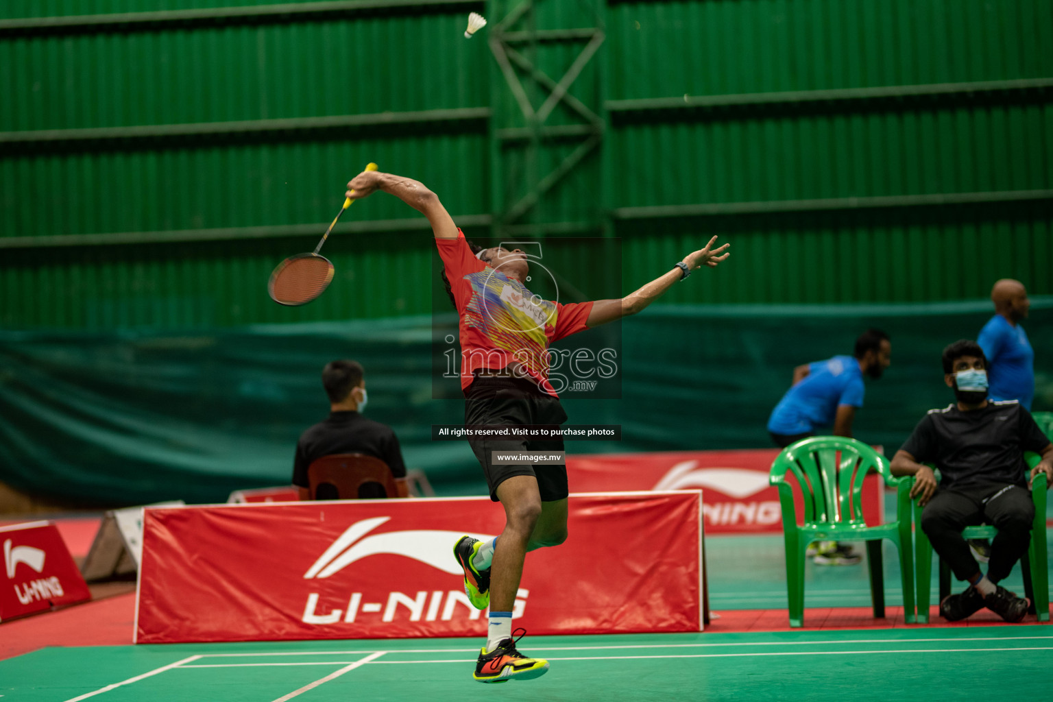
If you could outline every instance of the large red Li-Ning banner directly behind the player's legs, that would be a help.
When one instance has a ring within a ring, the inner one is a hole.
[[[701,630],[698,490],[571,495],[569,513],[568,540],[526,557],[516,626]],[[147,507],[135,640],[482,637],[453,546],[503,526],[485,497]]]

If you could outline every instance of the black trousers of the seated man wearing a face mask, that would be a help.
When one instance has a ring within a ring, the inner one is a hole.
[[[969,550],[961,529],[984,523],[995,526],[998,535],[991,542],[988,579],[998,582],[1027,553],[1034,518],[1035,503],[1027,487],[970,485],[938,490],[921,512],[921,529],[955,577],[968,580],[979,573],[980,566]]]

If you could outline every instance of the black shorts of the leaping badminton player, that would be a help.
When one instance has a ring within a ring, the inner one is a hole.
[[[559,399],[540,390],[529,380],[479,377],[465,393],[464,424],[554,424],[567,421]],[[562,500],[569,494],[567,465],[506,465],[493,462],[495,450],[562,452],[563,440],[469,439],[490,486],[490,499],[497,502],[497,486],[514,476],[534,476],[542,502]]]

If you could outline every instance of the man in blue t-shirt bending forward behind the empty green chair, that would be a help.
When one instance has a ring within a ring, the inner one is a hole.
[[[793,372],[793,385],[768,419],[772,441],[786,448],[831,426],[834,435],[851,437],[855,412],[862,406],[863,376],[880,378],[891,363],[889,335],[867,329],[856,339],[853,356],[798,365]],[[809,554],[813,555],[812,547]],[[819,565],[853,565],[861,560],[848,546],[834,541],[819,542],[814,556]]]

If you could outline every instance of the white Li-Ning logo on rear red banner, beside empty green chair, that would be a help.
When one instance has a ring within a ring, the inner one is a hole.
[[[774,524],[781,510],[775,501],[747,502],[746,499],[769,486],[768,474],[746,468],[698,468],[698,461],[683,461],[669,469],[656,490],[708,487],[735,499],[735,502],[702,503],[702,514],[711,524]]]

